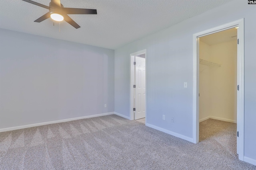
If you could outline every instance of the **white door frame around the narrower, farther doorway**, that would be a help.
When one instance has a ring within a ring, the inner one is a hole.
[[[130,120],[134,120],[134,111],[133,111],[133,107],[134,107],[134,57],[137,55],[141,55],[141,54],[145,54],[145,60],[146,60],[146,113],[145,113],[145,117],[146,117],[146,123],[147,123],[147,50],[141,50],[141,51],[137,51],[135,53],[130,54]]]

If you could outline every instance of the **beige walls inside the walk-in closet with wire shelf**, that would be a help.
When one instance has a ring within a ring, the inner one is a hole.
[[[199,58],[221,64],[199,64],[199,121],[208,118],[236,123],[237,44],[200,41]]]

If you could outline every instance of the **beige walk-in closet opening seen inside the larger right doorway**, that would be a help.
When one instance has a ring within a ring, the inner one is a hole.
[[[218,141],[236,153],[237,29],[198,39],[199,142]]]

